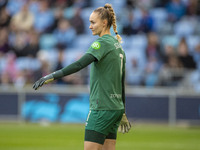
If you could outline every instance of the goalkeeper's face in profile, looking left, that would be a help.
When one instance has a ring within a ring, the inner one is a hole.
[[[104,22],[100,19],[98,13],[93,12],[90,15],[90,29],[93,35],[101,36],[103,29],[105,28]]]

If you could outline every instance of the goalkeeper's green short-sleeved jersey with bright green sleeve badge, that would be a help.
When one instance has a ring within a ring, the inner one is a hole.
[[[124,109],[122,75],[126,57],[120,43],[106,34],[93,42],[86,53],[97,59],[90,70],[90,109]]]

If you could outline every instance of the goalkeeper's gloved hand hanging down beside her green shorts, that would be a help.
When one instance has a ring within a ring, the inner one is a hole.
[[[130,129],[131,129],[131,124],[128,121],[126,114],[124,113],[118,131],[122,133],[128,133]]]

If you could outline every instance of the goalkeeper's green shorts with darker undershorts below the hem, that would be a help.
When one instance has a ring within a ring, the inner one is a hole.
[[[116,139],[124,110],[90,110],[85,126],[85,141],[103,144]]]

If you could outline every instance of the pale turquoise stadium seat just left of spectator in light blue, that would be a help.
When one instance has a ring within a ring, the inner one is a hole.
[[[57,40],[52,34],[43,34],[40,37],[40,47],[41,49],[48,50],[56,46]]]

